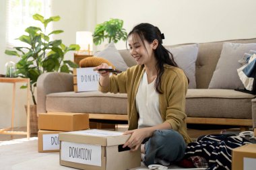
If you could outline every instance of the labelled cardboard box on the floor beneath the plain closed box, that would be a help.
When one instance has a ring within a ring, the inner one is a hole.
[[[39,130],[38,153],[59,152],[59,133],[63,131]]]

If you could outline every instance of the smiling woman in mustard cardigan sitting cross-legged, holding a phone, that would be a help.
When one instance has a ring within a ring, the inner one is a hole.
[[[183,158],[191,139],[185,122],[188,80],[173,56],[162,46],[163,34],[151,24],[139,24],[128,34],[131,56],[137,65],[119,75],[99,71],[99,90],[127,93],[131,138],[123,145],[141,147],[145,165],[169,165]],[[97,67],[108,68],[102,64]]]

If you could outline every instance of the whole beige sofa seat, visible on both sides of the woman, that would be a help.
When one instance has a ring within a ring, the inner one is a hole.
[[[186,114],[199,118],[251,119],[251,100],[254,97],[230,89],[189,89]],[[127,94],[99,91],[51,93],[46,95],[46,111],[127,114]]]

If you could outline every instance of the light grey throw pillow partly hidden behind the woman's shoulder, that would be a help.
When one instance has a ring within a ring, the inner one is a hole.
[[[172,52],[174,61],[189,78],[189,89],[197,88],[195,82],[195,61],[197,60],[198,44],[170,47],[167,50]]]

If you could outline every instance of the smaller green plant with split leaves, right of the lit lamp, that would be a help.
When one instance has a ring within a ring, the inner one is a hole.
[[[123,28],[123,20],[111,18],[107,22],[97,24],[92,36],[96,45],[101,44],[105,39],[108,39],[108,43],[117,43],[119,40],[126,40],[127,32]]]

